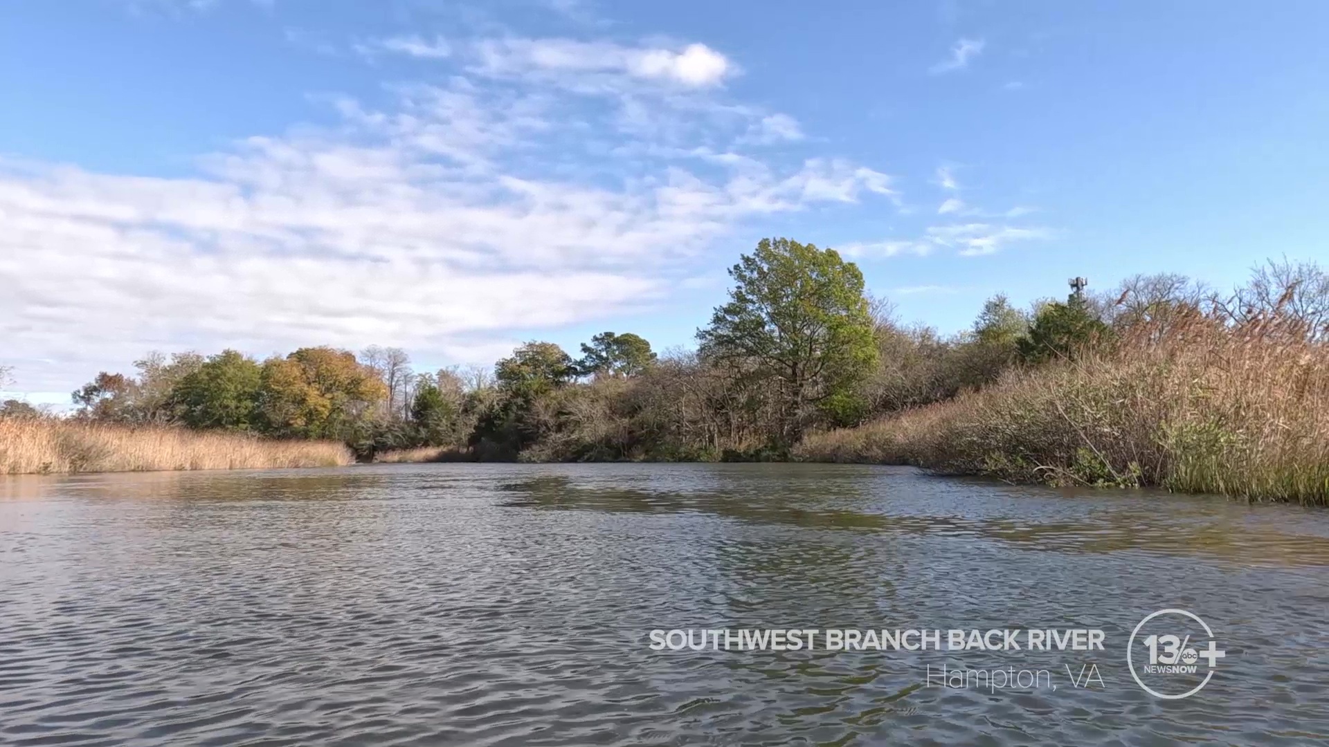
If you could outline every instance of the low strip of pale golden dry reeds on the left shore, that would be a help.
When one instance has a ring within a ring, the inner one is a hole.
[[[0,419],[0,473],[271,469],[351,464],[330,441],[275,441],[181,428]]]

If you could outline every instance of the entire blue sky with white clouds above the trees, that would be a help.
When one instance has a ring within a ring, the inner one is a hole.
[[[690,344],[760,237],[949,332],[1329,258],[1329,4],[3,3],[0,364]]]

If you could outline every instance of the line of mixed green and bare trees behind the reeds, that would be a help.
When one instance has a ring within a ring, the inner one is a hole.
[[[377,346],[267,360],[152,354],[133,374],[101,372],[73,392],[76,417],[331,439],[361,457],[439,447],[481,460],[780,459],[809,431],[945,400],[1188,310],[1240,320],[1277,307],[1321,338],[1329,323],[1329,279],[1288,261],[1227,295],[1177,275],[1027,310],[997,295],[952,336],[901,324],[832,249],[763,239],[730,276],[695,350],[661,355],[639,335],[603,332],[575,359],[529,342],[492,370],[431,372]],[[5,403],[0,416],[24,407]]]

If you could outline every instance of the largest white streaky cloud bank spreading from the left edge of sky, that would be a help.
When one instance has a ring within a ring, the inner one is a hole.
[[[686,49],[614,69],[692,89],[715,73]],[[710,150],[763,116],[700,92],[601,94],[610,106],[522,76],[407,85],[383,109],[336,100],[336,126],[249,138],[191,178],[0,161],[16,387],[70,389],[152,348],[377,343],[476,360],[525,330],[658,302],[747,218],[894,197],[849,161]],[[625,101],[688,126],[623,128]]]

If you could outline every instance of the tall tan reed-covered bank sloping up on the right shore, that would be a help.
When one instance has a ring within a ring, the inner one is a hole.
[[[1110,351],[815,433],[795,457],[1325,505],[1329,355],[1310,339],[1268,320],[1172,320]]]

